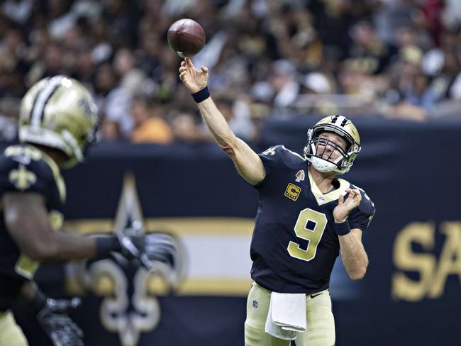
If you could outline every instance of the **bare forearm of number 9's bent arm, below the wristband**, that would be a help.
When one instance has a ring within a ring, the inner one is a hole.
[[[360,230],[359,230],[360,232]],[[362,242],[350,232],[338,236],[343,264],[352,280],[360,280],[365,276],[368,266],[368,256]]]

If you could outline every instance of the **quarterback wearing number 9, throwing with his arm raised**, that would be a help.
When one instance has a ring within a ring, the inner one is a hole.
[[[344,116],[327,116],[309,129],[304,157],[283,145],[257,155],[213,103],[208,69],[197,71],[186,57],[179,77],[218,145],[259,191],[245,345],[289,346],[290,340],[297,346],[334,345],[328,291],[333,264],[341,254],[350,278],[364,277],[362,232],[374,215],[365,191],[337,177],[360,151],[357,128]]]

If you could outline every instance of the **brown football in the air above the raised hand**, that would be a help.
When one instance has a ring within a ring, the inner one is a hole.
[[[191,57],[200,52],[205,45],[205,32],[199,23],[192,19],[179,19],[168,29],[168,44],[180,57]]]

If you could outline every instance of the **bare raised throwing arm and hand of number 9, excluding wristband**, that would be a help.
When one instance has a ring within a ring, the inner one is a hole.
[[[208,76],[208,69],[202,66],[201,70],[197,71],[189,57],[186,57],[181,62],[179,77],[191,94],[206,88]],[[240,140],[230,130],[226,119],[214,104],[213,99],[208,97],[197,105],[202,118],[204,118],[219,147],[233,160],[243,179],[253,185],[261,182],[265,178],[266,172],[260,157],[247,143]]]

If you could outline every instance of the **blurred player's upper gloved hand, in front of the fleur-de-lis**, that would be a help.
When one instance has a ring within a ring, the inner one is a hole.
[[[155,262],[174,266],[177,258],[177,242],[168,233],[138,233],[128,228],[118,235],[122,255],[128,259],[138,259],[143,266],[151,270]]]

